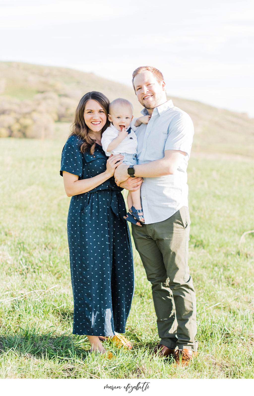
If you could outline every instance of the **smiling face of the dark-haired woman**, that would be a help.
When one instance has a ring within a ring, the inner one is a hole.
[[[100,103],[96,102],[96,100],[89,99],[85,105],[84,110],[84,120],[88,132],[101,132],[102,128],[106,124],[107,114],[102,109]]]

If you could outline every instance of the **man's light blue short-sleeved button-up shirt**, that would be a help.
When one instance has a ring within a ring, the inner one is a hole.
[[[147,115],[148,111],[143,109],[141,113]],[[158,223],[171,217],[182,206],[188,206],[186,170],[194,134],[193,123],[187,113],[169,100],[155,107],[148,124],[135,128],[135,133],[139,164],[163,158],[165,150],[187,153],[173,175],[146,177],[141,185],[145,223]]]

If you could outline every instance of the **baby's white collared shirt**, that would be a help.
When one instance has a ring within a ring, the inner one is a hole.
[[[137,118],[135,118],[137,120]],[[126,136],[121,143],[117,147],[114,148],[114,150],[107,151],[108,145],[118,136],[118,129],[114,127],[114,125],[111,123],[110,126],[102,133],[102,148],[105,151],[106,156],[110,156],[111,154],[120,154],[120,152],[125,152],[126,154],[137,154],[137,136],[133,129],[136,129],[135,126],[135,121],[131,122],[129,129],[131,127],[131,132]],[[132,129],[133,128],[133,129]],[[131,139],[132,138],[132,139]]]

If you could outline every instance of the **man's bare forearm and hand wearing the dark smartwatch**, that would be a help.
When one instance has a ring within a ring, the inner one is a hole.
[[[165,175],[173,175],[185,155],[186,152],[184,151],[165,150],[164,157],[160,158],[160,160],[151,161],[147,164],[135,165],[135,176],[159,177]],[[114,177],[117,185],[119,185],[129,177],[127,173],[128,168],[128,165],[121,164],[115,169]]]

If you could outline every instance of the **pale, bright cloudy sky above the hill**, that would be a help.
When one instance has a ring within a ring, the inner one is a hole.
[[[0,0],[0,48],[129,86],[154,66],[169,96],[254,117],[254,0]]]

